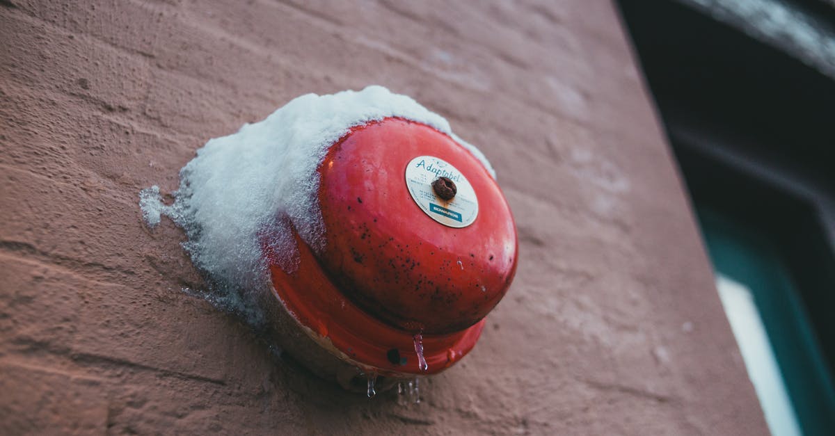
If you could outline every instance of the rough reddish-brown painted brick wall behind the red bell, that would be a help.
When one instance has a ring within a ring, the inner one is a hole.
[[[235,5],[235,6],[232,6]],[[382,84],[498,170],[519,271],[423,403],[272,357],[139,189],[307,92]],[[608,2],[0,1],[0,433],[764,434]]]

